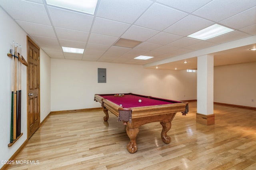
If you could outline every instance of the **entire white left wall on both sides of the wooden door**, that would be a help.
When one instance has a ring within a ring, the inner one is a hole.
[[[22,65],[21,132],[23,135],[10,143],[12,58],[7,53],[12,41],[22,45],[22,56],[27,61],[27,34],[0,8],[0,160],[9,160],[27,139],[27,67]],[[50,113],[50,57],[40,50],[40,117]],[[4,166],[0,164],[0,168]]]

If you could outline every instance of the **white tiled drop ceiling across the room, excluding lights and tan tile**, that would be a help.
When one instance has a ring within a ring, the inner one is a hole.
[[[50,6],[45,0],[1,0],[0,7],[57,59],[150,64],[148,68],[154,68],[159,61],[176,57],[177,61],[158,67],[195,69],[194,51],[256,37],[255,0],[99,0],[94,15]],[[213,24],[234,31],[206,41],[186,37]],[[133,48],[114,45],[120,39],[141,43]],[[82,48],[84,53],[64,53],[62,46]],[[256,47],[256,40],[215,51],[214,65],[256,61],[256,51],[248,51],[251,47]],[[186,65],[184,59],[178,60],[184,54],[191,54]],[[154,58],[134,59],[139,55]]]

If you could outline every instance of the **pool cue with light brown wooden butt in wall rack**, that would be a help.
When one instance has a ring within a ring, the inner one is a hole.
[[[13,113],[13,140],[17,138],[17,61],[18,61],[18,46],[15,45],[15,67],[14,67],[14,113]]]

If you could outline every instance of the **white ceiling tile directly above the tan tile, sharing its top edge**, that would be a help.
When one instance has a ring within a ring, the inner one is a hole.
[[[142,28],[139,26],[131,26],[122,36],[121,38],[128,40],[135,40],[144,42],[156,35],[159,31],[151,30],[148,28]]]

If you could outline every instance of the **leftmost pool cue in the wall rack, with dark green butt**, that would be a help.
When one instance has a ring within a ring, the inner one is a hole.
[[[12,42],[12,101],[11,101],[11,134],[10,134],[10,143],[13,142],[13,97],[14,97],[14,81],[13,81],[13,78],[14,78],[14,41]]]

